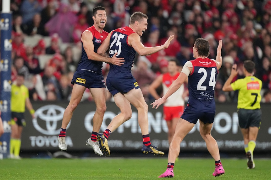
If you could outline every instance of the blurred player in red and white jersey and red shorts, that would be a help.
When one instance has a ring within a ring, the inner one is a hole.
[[[180,75],[179,69],[180,69],[179,61],[175,59],[170,59],[168,65],[168,72],[158,76],[158,78],[156,78],[149,86],[150,94],[156,100],[158,100],[161,97],[160,95],[158,95],[156,89],[160,85],[162,85],[163,94],[165,94],[169,90],[169,87],[173,83],[173,81],[176,80]],[[182,97],[183,93],[184,85],[181,85],[181,87],[168,98],[167,102],[165,102],[163,106],[164,119],[166,120],[169,129],[168,131],[169,143],[171,142],[172,137],[174,135],[176,124],[184,111],[185,101]]]

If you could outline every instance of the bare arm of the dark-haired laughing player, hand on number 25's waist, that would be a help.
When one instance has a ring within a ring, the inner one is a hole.
[[[87,58],[94,60],[94,61],[101,61],[101,62],[106,62],[106,63],[111,63],[114,65],[121,65],[123,64],[124,60],[123,58],[116,58],[114,55],[112,58],[102,56],[100,54],[97,54],[94,52],[94,44],[92,42],[93,35],[90,31],[84,31],[82,33],[81,40],[83,42],[83,47],[86,51]],[[102,45],[101,45],[102,46]]]

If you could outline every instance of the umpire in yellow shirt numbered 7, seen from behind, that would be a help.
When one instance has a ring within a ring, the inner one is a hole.
[[[230,77],[226,80],[222,88],[223,91],[239,90],[237,113],[239,126],[244,137],[248,169],[255,168],[253,151],[256,147],[256,138],[262,117],[262,111],[260,109],[262,81],[253,76],[254,69],[255,63],[253,61],[244,61],[243,71],[246,77],[231,83],[233,78],[238,74],[237,65],[234,64],[231,69]]]

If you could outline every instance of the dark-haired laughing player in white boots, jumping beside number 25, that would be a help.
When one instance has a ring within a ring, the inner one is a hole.
[[[105,8],[101,6],[93,8],[92,19],[94,20],[93,26],[87,28],[81,35],[82,57],[71,82],[74,86],[69,105],[64,111],[61,130],[58,136],[58,147],[60,150],[67,150],[65,141],[66,128],[86,88],[89,88],[96,104],[96,111],[93,116],[92,135],[91,138],[86,141],[86,144],[92,147],[95,153],[102,156],[96,138],[102,125],[104,112],[106,111],[106,89],[102,75],[102,62],[120,66],[124,60],[122,60],[123,58],[116,58],[116,55],[109,58],[96,53],[98,47],[108,35],[108,33],[103,30],[107,20]]]

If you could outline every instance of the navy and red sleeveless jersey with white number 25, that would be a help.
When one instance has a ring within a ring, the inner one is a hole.
[[[109,57],[116,52],[117,58],[124,58],[125,62],[121,66],[110,64],[108,77],[132,76],[131,68],[135,59],[136,51],[128,44],[128,36],[135,33],[131,28],[124,27],[115,29],[110,37]]]

